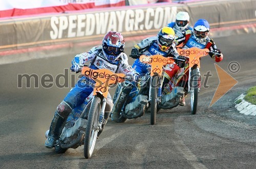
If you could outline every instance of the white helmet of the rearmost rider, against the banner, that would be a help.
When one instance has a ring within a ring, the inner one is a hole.
[[[188,23],[189,23],[189,15],[187,12],[178,12],[177,15],[176,15],[176,28],[179,30],[179,31],[184,31],[187,26],[188,26]]]

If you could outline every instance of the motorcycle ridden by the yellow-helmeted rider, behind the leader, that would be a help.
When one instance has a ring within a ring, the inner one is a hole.
[[[164,66],[167,64],[173,64],[174,62],[182,61],[175,58],[165,58],[160,54],[156,55],[141,55],[140,62],[151,65],[150,71],[144,76],[140,77],[139,80],[139,92],[133,101],[127,104],[119,114],[118,123],[125,122],[126,119],[135,119],[144,115],[144,112],[151,106],[151,124],[156,124],[156,114],[159,110],[162,97],[162,80],[164,75]],[[129,85],[129,84],[128,84]],[[122,90],[125,87],[123,84],[122,87],[116,91],[114,96],[114,107],[121,96]],[[113,108],[114,110],[114,108]]]

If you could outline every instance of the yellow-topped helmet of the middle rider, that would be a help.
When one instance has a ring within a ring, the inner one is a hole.
[[[175,32],[172,27],[164,26],[157,34],[157,44],[160,50],[166,51],[172,45],[175,39]]]

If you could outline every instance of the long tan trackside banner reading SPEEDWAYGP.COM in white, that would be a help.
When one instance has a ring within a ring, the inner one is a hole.
[[[167,3],[168,4],[168,3]],[[54,14],[0,20],[0,52],[38,46],[93,43],[108,31],[121,32],[126,42],[138,36],[156,36],[161,27],[175,21],[179,11],[187,11],[190,24],[204,18],[211,30],[256,22],[253,0],[207,1],[207,3],[105,8],[80,13]]]

